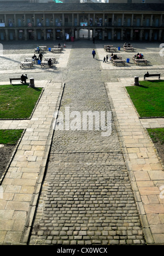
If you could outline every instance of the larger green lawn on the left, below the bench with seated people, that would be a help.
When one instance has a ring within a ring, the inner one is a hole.
[[[29,118],[42,88],[28,88],[28,85],[0,86],[0,118]]]

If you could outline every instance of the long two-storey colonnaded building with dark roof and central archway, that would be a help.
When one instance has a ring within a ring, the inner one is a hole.
[[[0,42],[83,37],[162,41],[164,4],[0,1]]]

